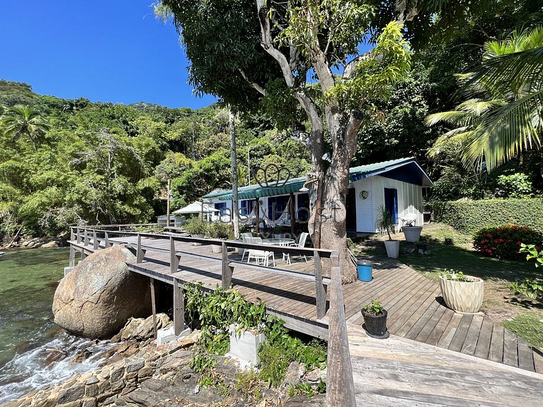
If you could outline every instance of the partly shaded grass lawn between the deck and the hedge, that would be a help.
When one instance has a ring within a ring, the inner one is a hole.
[[[444,238],[453,236],[453,246],[444,244]],[[354,240],[354,252],[358,255],[386,255],[382,240],[386,237]],[[531,262],[513,262],[487,258],[474,251],[469,235],[440,223],[424,225],[421,240],[427,242],[429,254],[418,251],[409,254],[406,249],[413,244],[404,241],[403,233],[393,236],[400,240],[400,260],[414,270],[434,281],[443,269],[454,269],[484,280],[484,302],[482,311],[495,322],[524,337],[530,344],[543,348],[543,308],[523,306],[509,301],[513,292],[511,282],[524,278],[543,277],[543,267],[535,268]]]

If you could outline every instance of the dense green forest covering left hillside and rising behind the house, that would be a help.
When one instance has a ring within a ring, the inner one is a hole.
[[[509,38],[518,44],[542,21],[537,2],[495,3],[491,15],[471,6],[462,18],[442,15],[428,30],[408,25],[411,69],[388,86],[387,98],[371,106],[373,114],[358,131],[352,165],[414,156],[436,181],[432,199],[540,194],[543,158],[537,143],[487,169],[480,161],[460,159],[469,140],[439,143],[459,123],[446,116],[427,119],[466,101],[455,74],[484,64],[489,43]],[[538,35],[530,40],[532,48],[542,46]],[[292,107],[292,117],[280,114],[279,105],[284,109],[288,103],[265,97],[237,109],[240,186],[247,184],[248,156],[251,167],[276,163],[294,176],[311,169],[309,149],[291,138],[294,127],[310,125],[298,120],[300,107]],[[31,85],[1,80],[0,115],[3,240],[54,235],[68,225],[154,220],[165,213],[168,179],[174,209],[231,185],[228,109],[221,103],[198,110],[93,103],[39,95]],[[325,137],[325,143],[331,140]]]

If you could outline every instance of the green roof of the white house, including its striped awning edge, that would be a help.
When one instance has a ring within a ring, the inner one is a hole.
[[[409,171],[399,171],[400,167],[408,166]],[[383,161],[382,163],[360,165],[360,167],[354,167],[349,169],[350,182],[361,180],[362,178],[369,178],[378,174],[388,173],[390,178],[402,180],[405,182],[411,182],[413,184],[422,186],[431,186],[432,182],[427,174],[420,168],[414,158],[400,158],[398,160]],[[267,187],[250,185],[248,187],[240,187],[238,189],[239,199],[252,199],[262,198],[263,196],[280,196],[288,195],[294,192],[300,191],[300,188],[305,184],[305,177],[291,178],[284,181],[279,181],[274,185],[281,185],[280,187]],[[283,184],[284,182],[284,184]],[[203,196],[203,198],[218,198],[218,200],[232,200],[231,189],[216,189],[209,194]]]

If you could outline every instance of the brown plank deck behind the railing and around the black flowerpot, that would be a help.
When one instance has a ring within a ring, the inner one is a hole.
[[[127,236],[110,239],[135,247],[137,238]],[[92,241],[71,242],[78,250],[94,251]],[[143,238],[141,247],[147,249],[142,262],[130,264],[132,270],[150,277],[172,283],[201,282],[206,289],[221,286],[221,253],[212,253],[209,246],[194,246],[186,242],[175,242],[181,261],[176,273],[170,273],[170,255],[167,240]],[[100,242],[103,247],[103,241]],[[154,251],[156,249],[163,250]],[[200,255],[189,258],[187,255]],[[286,265],[276,255],[278,267],[314,275],[311,259],[292,259]],[[206,258],[210,258],[206,260]],[[228,254],[229,262],[240,260],[237,253]],[[438,284],[425,278],[406,265],[391,259],[374,260],[373,280],[354,282],[343,286],[345,315],[349,326],[360,326],[360,309],[372,298],[380,300],[389,313],[388,327],[392,335],[404,337],[488,359],[526,371],[543,373],[543,358],[522,338],[517,337],[501,325],[482,315],[462,315],[451,311],[442,302]],[[236,264],[232,286],[245,295],[247,300],[265,302],[267,311],[285,320],[286,326],[315,337],[327,337],[327,315],[316,317],[316,285],[281,275],[272,275]]]

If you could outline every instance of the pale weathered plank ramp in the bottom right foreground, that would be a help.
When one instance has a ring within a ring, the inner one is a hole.
[[[356,405],[535,407],[543,375],[347,324]]]

